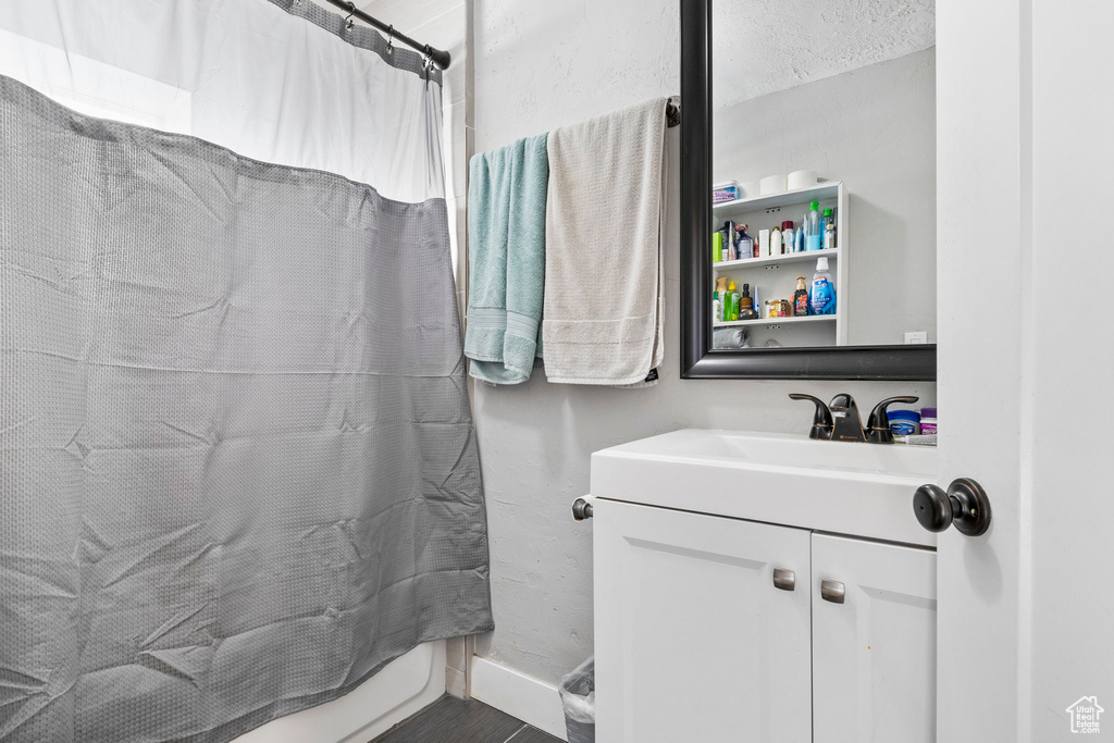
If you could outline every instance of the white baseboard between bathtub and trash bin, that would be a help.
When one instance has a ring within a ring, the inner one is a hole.
[[[556,686],[473,656],[472,696],[563,741],[568,740]]]

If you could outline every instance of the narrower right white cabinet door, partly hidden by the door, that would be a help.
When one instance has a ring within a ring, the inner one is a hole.
[[[935,743],[936,553],[814,534],[812,583],[813,741]]]

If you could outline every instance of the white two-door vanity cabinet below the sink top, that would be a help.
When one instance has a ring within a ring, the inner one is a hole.
[[[932,549],[607,498],[594,512],[600,743],[936,740]]]

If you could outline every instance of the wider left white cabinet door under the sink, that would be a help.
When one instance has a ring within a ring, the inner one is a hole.
[[[608,500],[593,522],[597,740],[810,741],[809,532]]]

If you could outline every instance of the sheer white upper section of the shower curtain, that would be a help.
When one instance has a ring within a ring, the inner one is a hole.
[[[311,0],[9,0],[0,75],[385,198],[444,197],[440,71]]]

